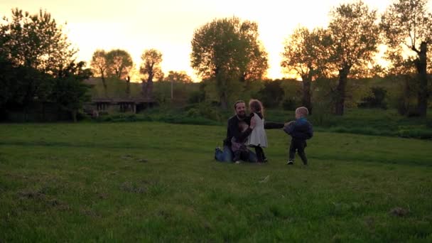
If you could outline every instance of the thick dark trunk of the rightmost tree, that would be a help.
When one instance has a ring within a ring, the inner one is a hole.
[[[426,111],[428,109],[428,73],[427,67],[427,44],[422,42],[420,45],[419,58],[415,60],[417,74],[419,77],[419,90],[418,90],[418,104],[417,110],[421,117],[426,117]]]

